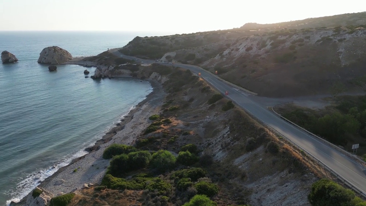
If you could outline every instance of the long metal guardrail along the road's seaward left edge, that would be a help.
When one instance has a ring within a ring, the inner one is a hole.
[[[205,79],[204,77],[202,77],[203,79]],[[206,80],[206,79],[205,79]],[[220,91],[219,88],[217,88],[215,85],[213,85],[211,82],[207,81],[210,85],[212,85],[214,88],[216,88],[218,91]],[[228,99],[232,100],[233,102],[236,103],[236,105],[240,106],[240,104],[238,102],[236,102],[234,99],[232,99],[230,96],[225,95],[224,92],[220,91],[221,94],[223,94],[224,96],[226,96]],[[290,103],[290,102],[287,102]],[[284,103],[282,103],[284,104]],[[278,106],[278,105],[277,105]],[[240,106],[242,107],[242,106]],[[258,119],[263,125],[265,125],[267,128],[269,128],[270,130],[272,130],[273,132],[275,132],[278,136],[284,138],[285,140],[289,141],[292,145],[294,145],[295,147],[297,147],[299,150],[302,150],[303,152],[305,152],[307,155],[309,155],[311,158],[313,158],[315,161],[318,162],[318,164],[322,165],[326,170],[328,170],[330,173],[332,173],[333,175],[335,175],[337,177],[337,179],[339,179],[341,182],[343,182],[344,184],[346,184],[348,187],[350,187],[352,190],[354,190],[355,192],[357,192],[358,194],[362,195],[364,198],[366,198],[366,193],[363,192],[360,188],[356,187],[355,185],[353,185],[352,183],[350,183],[349,181],[347,181],[344,177],[342,177],[340,174],[338,174],[336,171],[334,171],[333,169],[331,169],[328,165],[326,165],[325,163],[323,163],[322,161],[320,161],[318,158],[314,157],[313,155],[311,155],[309,152],[307,152],[306,150],[304,150],[302,147],[300,147],[298,144],[296,144],[295,142],[293,142],[291,139],[283,136],[281,133],[279,133],[275,128],[273,128],[272,126],[268,125],[266,122],[262,121],[262,119],[256,117],[253,113],[251,113],[249,110],[247,110],[247,108],[242,107],[244,110],[246,110],[252,117],[254,117],[255,119]],[[272,107],[273,110],[273,107]],[[275,112],[275,110],[273,110]],[[276,113],[276,112],[275,112]],[[277,113],[276,113],[277,114]],[[279,115],[279,114],[277,114]],[[324,140],[325,141],[325,140]]]

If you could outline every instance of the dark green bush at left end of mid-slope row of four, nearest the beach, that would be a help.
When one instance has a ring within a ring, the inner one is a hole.
[[[120,176],[120,174],[130,172],[131,170],[128,156],[126,154],[120,154],[112,158],[107,173],[111,173],[113,176]]]

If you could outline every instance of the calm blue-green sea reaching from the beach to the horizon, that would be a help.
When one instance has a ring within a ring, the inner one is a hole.
[[[123,118],[152,87],[133,78],[92,80],[95,68],[37,63],[49,46],[72,56],[123,47],[158,32],[0,32],[0,52],[19,61],[0,63],[0,205],[19,201]]]

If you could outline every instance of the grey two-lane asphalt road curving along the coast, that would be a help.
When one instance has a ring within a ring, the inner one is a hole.
[[[113,52],[113,54],[117,56],[121,55],[118,51]],[[123,58],[138,59],[124,55]],[[154,63],[154,60],[138,59],[138,62]],[[256,102],[255,100],[258,98],[254,98],[253,95],[242,92],[239,89],[225,84],[218,78],[213,77],[212,74],[209,74],[208,71],[191,65],[175,64],[174,66],[190,69],[196,74],[200,72],[201,77],[216,87],[217,90],[221,92],[228,91],[228,96],[234,100],[236,104],[245,108],[262,122],[265,122],[277,130],[277,132],[279,132],[281,135],[296,143],[298,146],[303,148],[304,151],[309,152],[329,168],[336,171],[336,173],[338,173],[344,179],[348,180],[354,187],[357,187],[359,190],[363,191],[364,194],[366,194],[366,168],[363,168],[361,165],[359,165],[359,163],[279,118],[277,115],[273,114],[264,106]]]

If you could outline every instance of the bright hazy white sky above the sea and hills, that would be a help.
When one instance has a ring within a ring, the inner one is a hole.
[[[0,30],[191,33],[361,11],[365,0],[0,0]]]

